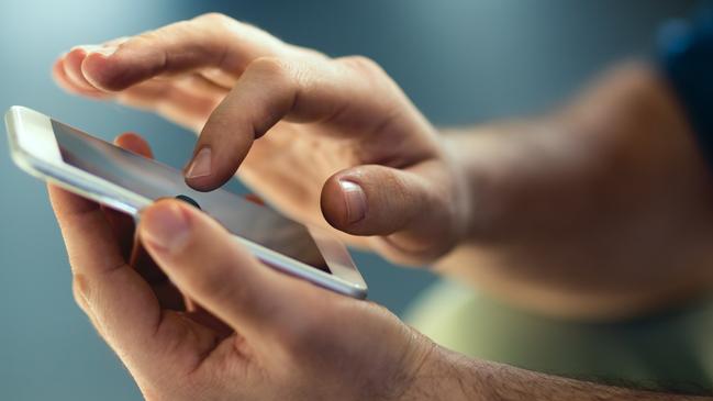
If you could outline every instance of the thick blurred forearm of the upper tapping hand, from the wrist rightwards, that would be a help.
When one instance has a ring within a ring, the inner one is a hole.
[[[447,274],[547,313],[605,319],[710,282],[694,223],[710,185],[650,67],[617,68],[555,113],[444,140],[471,203],[468,234],[437,264]]]

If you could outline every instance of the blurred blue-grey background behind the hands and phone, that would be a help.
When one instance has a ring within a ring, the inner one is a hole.
[[[379,62],[435,124],[545,111],[616,59],[646,56],[661,20],[692,1],[15,1],[0,2],[0,110],[23,104],[111,138],[145,134],[182,166],[194,136],[154,115],[62,92],[49,67],[77,44],[220,11],[285,41]],[[75,307],[69,267],[44,186],[0,141],[0,399],[140,397]],[[403,313],[433,281],[357,255],[370,298]]]

